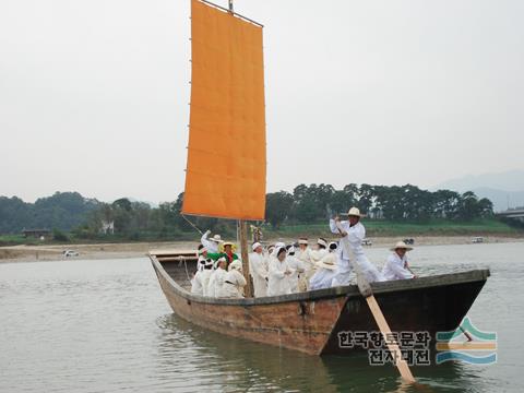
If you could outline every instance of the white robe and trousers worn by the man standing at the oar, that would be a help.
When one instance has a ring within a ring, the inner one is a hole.
[[[379,270],[371,262],[369,262],[368,258],[364,253],[362,240],[366,238],[366,228],[364,225],[359,222],[354,226],[349,226],[349,222],[347,221],[343,221],[341,224],[342,228],[347,233],[346,238],[349,240],[349,247],[355,254],[355,262],[358,263],[362,270],[366,279],[369,283],[384,281]],[[334,219],[330,219],[330,229],[333,234],[340,234]],[[341,262],[337,266],[335,283],[336,285],[347,285],[346,283],[349,283],[349,275],[352,273],[350,255],[347,255],[344,251],[344,245],[342,240],[340,247],[342,250]]]

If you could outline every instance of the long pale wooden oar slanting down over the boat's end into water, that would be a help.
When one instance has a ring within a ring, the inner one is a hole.
[[[353,253],[350,251],[350,245],[346,236],[347,235],[346,231],[342,227],[340,221],[335,221],[335,224],[342,236],[341,241],[344,248],[344,252],[346,253],[346,255],[352,255]],[[396,343],[395,340],[393,340],[392,342],[388,340],[393,337],[393,335],[391,334],[391,329],[388,324],[388,321],[384,318],[384,314],[382,313],[382,310],[380,309],[379,303],[377,302],[377,299],[374,298],[371,286],[366,279],[360,269],[360,265],[355,260],[355,258],[353,258],[350,262],[353,264],[353,269],[355,270],[355,273],[357,274],[358,289],[360,294],[366,298],[366,301],[368,302],[368,307],[371,310],[371,313],[373,314],[374,321],[379,325],[380,333],[382,333],[382,336],[384,337],[384,342],[388,345],[388,349],[391,352],[391,354],[393,355],[393,358],[396,360],[395,366],[398,369],[401,377],[406,382],[409,382],[409,383],[416,382],[415,378],[413,377],[412,370],[409,370],[409,366],[407,366],[406,360],[402,358],[402,352],[401,352],[401,348],[398,347],[398,344]]]

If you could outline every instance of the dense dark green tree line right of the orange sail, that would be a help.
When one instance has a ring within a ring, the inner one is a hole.
[[[357,206],[370,218],[424,223],[431,218],[472,221],[493,214],[490,200],[474,192],[434,192],[416,186],[371,186],[350,183],[336,190],[331,184],[299,184],[293,192],[266,195],[266,221],[277,228],[284,223],[305,224]]]

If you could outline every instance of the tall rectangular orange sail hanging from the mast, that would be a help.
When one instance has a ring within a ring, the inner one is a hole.
[[[264,219],[262,26],[191,1],[191,115],[182,213]]]

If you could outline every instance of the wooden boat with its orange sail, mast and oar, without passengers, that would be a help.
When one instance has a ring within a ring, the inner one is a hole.
[[[378,283],[372,285],[376,298],[361,279],[359,288],[252,297],[247,222],[265,218],[262,25],[235,13],[233,0],[229,9],[191,0],[191,34],[190,132],[181,213],[238,221],[248,285],[242,299],[191,294],[195,251],[151,251],[153,267],[172,310],[189,322],[219,333],[314,355],[350,353],[338,345],[340,332],[380,327],[385,335],[385,321],[378,326],[373,319],[380,317],[379,305],[392,331],[427,331],[432,335],[456,329],[489,271]],[[398,353],[398,348],[389,347]],[[413,381],[410,373],[404,372],[403,377]]]

